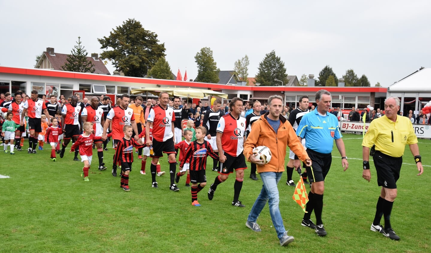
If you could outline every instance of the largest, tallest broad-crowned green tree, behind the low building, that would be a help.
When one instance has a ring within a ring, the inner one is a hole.
[[[100,58],[109,59],[125,76],[143,77],[160,57],[165,56],[165,43],[159,43],[157,34],[145,30],[141,22],[128,19],[112,29],[109,37],[97,39],[105,50]]]

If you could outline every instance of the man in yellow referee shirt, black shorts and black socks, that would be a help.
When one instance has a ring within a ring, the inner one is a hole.
[[[424,172],[419,155],[418,138],[413,130],[412,122],[407,117],[397,115],[399,110],[400,99],[397,97],[387,98],[384,102],[385,115],[371,122],[362,140],[364,169],[362,177],[368,182],[371,180],[369,165],[369,155],[371,155],[374,157],[377,183],[378,186],[381,186],[371,230],[380,232],[392,240],[400,240],[400,237],[390,226],[390,213],[397,197],[397,180],[400,178],[406,145],[409,145],[410,151],[415,157],[416,167],[419,171],[417,175],[419,176]],[[384,228],[380,225],[381,216],[384,216]]]

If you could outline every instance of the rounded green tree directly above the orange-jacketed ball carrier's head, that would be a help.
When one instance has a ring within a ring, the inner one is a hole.
[[[281,85],[280,82],[275,81],[278,79],[286,85],[288,82],[286,68],[281,58],[275,55],[275,50],[265,55],[265,58],[259,63],[258,73],[256,75],[256,82],[260,82],[262,86],[277,86]]]

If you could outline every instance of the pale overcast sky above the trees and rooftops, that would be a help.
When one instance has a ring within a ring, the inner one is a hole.
[[[213,51],[220,70],[233,70],[248,55],[254,77],[275,50],[288,75],[314,74],[325,65],[338,78],[353,69],[371,85],[389,86],[430,67],[431,1],[137,1],[0,0],[0,64],[32,68],[47,47],[70,53],[78,36],[89,55],[97,38],[128,18],[165,43],[172,72],[197,75],[194,56]],[[112,73],[114,68],[108,66]]]

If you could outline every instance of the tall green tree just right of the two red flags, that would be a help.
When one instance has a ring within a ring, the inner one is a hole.
[[[212,57],[212,50],[209,47],[203,47],[194,57],[197,63],[197,76],[195,82],[218,83],[219,71],[217,63]]]

